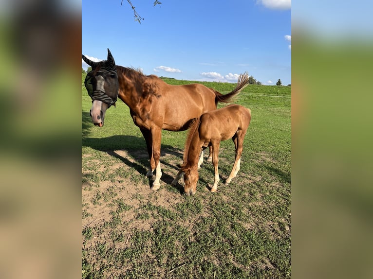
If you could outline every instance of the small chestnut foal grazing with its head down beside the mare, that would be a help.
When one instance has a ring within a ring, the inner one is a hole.
[[[251,111],[242,105],[228,105],[203,114],[191,124],[185,144],[184,163],[181,165],[180,171],[171,185],[176,185],[184,174],[184,193],[194,195],[197,188],[198,169],[201,165],[201,160],[198,160],[201,148],[203,157],[203,150],[207,146],[212,146],[215,180],[211,192],[215,192],[220,180],[218,170],[220,142],[232,139],[236,147],[236,159],[232,171],[225,181],[225,185],[227,185],[233,177],[236,177],[240,170],[243,139],[250,121]]]

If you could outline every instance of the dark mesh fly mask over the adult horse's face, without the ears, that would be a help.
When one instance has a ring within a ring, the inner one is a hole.
[[[104,102],[108,104],[109,107],[112,105],[115,106],[119,93],[116,70],[105,69],[104,67],[101,67],[97,71],[92,70],[87,74],[84,85],[87,88],[88,95],[90,95],[93,101]],[[93,87],[95,87],[94,90]]]

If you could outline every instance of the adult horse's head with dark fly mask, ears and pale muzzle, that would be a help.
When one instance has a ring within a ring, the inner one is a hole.
[[[108,60],[93,62],[82,54],[83,60],[92,67],[84,85],[92,99],[90,115],[94,125],[102,127],[106,110],[114,105],[118,98],[119,82],[112,53],[108,49]]]

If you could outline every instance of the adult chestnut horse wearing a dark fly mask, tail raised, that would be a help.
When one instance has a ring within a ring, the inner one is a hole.
[[[147,176],[153,178],[156,170],[152,190],[159,189],[162,175],[159,163],[162,129],[186,130],[193,119],[216,109],[218,102],[229,103],[249,84],[248,74],[244,73],[237,86],[223,95],[202,84],[168,85],[155,75],[146,76],[138,70],[117,66],[109,49],[107,60],[93,62],[83,54],[82,59],[92,67],[85,86],[93,100],[90,110],[93,124],[104,125],[105,112],[115,105],[117,98],[130,107],[132,120],[140,128],[148,148]]]

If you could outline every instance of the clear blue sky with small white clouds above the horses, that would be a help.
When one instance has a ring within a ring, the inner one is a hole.
[[[144,74],[265,85],[291,84],[291,0],[82,0],[82,53]],[[83,63],[83,69],[88,65]]]

